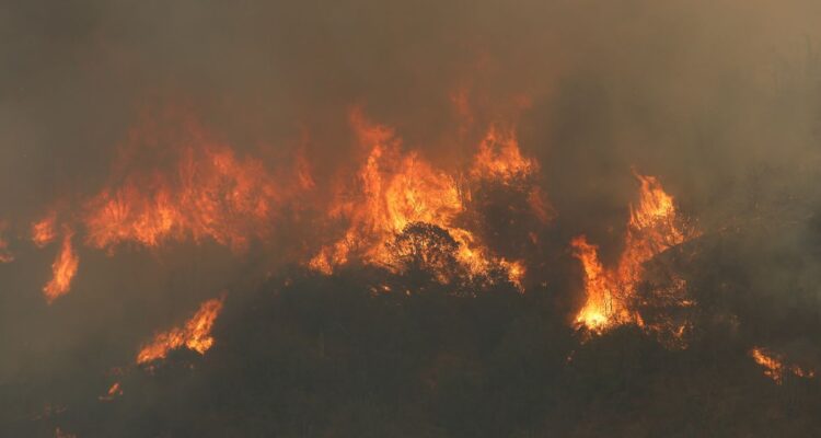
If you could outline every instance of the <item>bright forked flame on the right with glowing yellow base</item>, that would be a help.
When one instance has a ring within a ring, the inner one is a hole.
[[[639,201],[631,206],[618,265],[614,269],[602,266],[598,247],[589,244],[583,235],[570,243],[574,255],[585,269],[587,297],[576,315],[576,323],[593,332],[601,333],[625,323],[644,326],[641,316],[629,306],[629,299],[641,280],[643,265],[662,251],[697,235],[681,224],[672,196],[663,191],[657,178],[638,174],[636,177],[640,183]],[[683,291],[683,280],[677,284],[680,287],[675,291]],[[683,328],[679,327],[679,331]]]

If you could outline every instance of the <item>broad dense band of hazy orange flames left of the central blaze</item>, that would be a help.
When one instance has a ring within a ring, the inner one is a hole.
[[[266,233],[277,199],[259,162],[239,160],[227,148],[187,148],[175,177],[157,174],[97,195],[85,219],[88,242],[111,250],[127,241],[157,246],[210,238],[239,251]]]

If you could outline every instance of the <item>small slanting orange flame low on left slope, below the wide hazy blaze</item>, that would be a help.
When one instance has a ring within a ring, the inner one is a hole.
[[[185,323],[185,326],[157,334],[154,339],[137,354],[137,364],[164,359],[169,351],[183,346],[204,355],[213,345],[211,328],[222,311],[223,301],[224,296],[210,299],[200,304],[199,310]]]

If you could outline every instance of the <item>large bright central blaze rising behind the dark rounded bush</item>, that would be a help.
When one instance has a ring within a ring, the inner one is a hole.
[[[397,270],[398,261],[392,251],[395,246],[390,242],[407,227],[426,223],[447,231],[455,241],[456,261],[471,276],[501,266],[513,284],[521,285],[521,262],[494,257],[473,233],[456,226],[466,205],[465,193],[455,177],[435,169],[417,152],[403,152],[393,129],[370,123],[360,111],[351,112],[350,123],[368,153],[357,172],[357,184],[337,194],[328,214],[334,219],[346,219],[348,228],[342,239],[320,250],[309,262],[311,268],[331,274],[356,255],[367,264]],[[516,137],[494,128],[482,141],[471,174],[510,181],[534,169],[535,163],[519,152]],[[446,280],[443,276],[440,279]]]

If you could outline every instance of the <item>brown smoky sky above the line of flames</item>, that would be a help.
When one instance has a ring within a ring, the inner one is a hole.
[[[623,205],[631,165],[706,201],[761,163],[814,159],[818,16],[811,1],[10,2],[4,216],[96,191],[138,114],[169,102],[240,150],[308,138],[320,178],[351,155],[352,105],[464,159],[460,90],[475,129],[517,119],[556,203]]]

